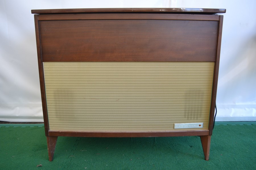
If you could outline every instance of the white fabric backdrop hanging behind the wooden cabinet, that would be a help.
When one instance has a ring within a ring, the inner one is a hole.
[[[43,122],[31,9],[125,7],[226,8],[216,121],[256,121],[254,0],[0,0],[0,121]]]

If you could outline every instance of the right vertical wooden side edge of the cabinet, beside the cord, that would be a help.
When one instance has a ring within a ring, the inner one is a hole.
[[[213,119],[215,112],[216,104],[216,94],[217,94],[217,85],[218,85],[218,73],[219,73],[219,63],[220,63],[220,45],[221,45],[221,36],[222,36],[222,25],[223,25],[223,15],[220,15],[219,30],[218,30],[218,41],[217,41],[217,52],[216,52],[216,62],[214,65],[214,76],[213,76],[213,87],[212,87],[212,101],[210,109],[210,118],[209,118],[209,135],[212,135],[213,128]]]

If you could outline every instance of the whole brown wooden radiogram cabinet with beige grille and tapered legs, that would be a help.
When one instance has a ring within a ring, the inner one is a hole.
[[[58,136],[200,136],[208,160],[225,12],[32,10],[49,160]]]

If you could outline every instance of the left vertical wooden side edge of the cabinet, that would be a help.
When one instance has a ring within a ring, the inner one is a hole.
[[[44,87],[44,66],[43,66],[42,54],[41,54],[38,15],[34,15],[34,20],[35,20],[35,30],[36,30],[36,48],[37,48],[37,58],[38,58],[40,90],[41,90],[41,98],[42,98],[42,109],[44,114],[44,129],[45,129],[46,136],[48,136],[48,131],[49,131],[48,114],[47,114],[46,94],[45,94],[45,87]]]

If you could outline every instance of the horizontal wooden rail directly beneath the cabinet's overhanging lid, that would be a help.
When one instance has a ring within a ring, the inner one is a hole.
[[[192,14],[44,14],[38,20],[206,20],[218,21],[218,15]]]

